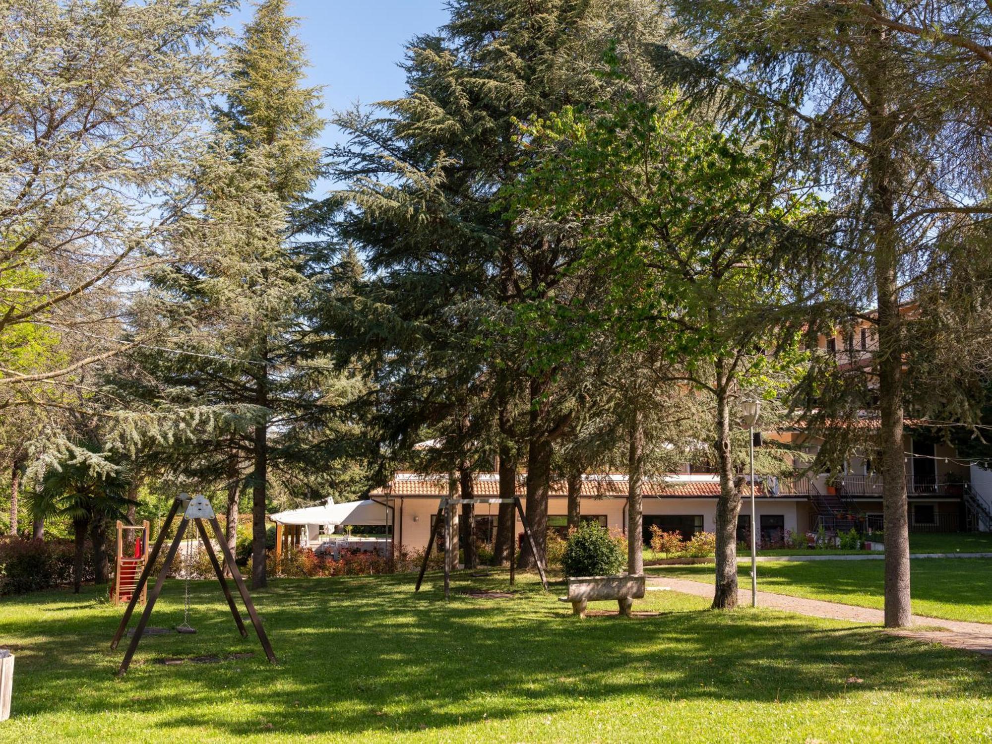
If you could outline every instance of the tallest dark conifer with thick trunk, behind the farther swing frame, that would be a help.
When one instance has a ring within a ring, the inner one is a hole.
[[[335,153],[337,176],[356,207],[340,232],[371,270],[337,330],[356,353],[375,349],[388,449],[401,459],[427,432],[499,433],[500,492],[510,494],[508,458],[517,455],[508,433],[522,432],[527,519],[542,553],[553,442],[574,400],[560,370],[532,368],[518,340],[497,329],[508,306],[554,294],[567,238],[555,225],[518,229],[495,197],[526,169],[515,119],[600,99],[611,40],[637,60],[660,27],[657,5],[644,0],[456,0],[438,35],[413,40],[407,95],[337,119],[351,135]],[[518,395],[522,427],[509,421]],[[454,470],[456,447],[446,449],[453,461],[441,466]]]

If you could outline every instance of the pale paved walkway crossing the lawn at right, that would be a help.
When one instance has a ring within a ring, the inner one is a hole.
[[[694,594],[699,597],[711,598],[713,596],[713,585],[701,581],[690,581],[684,578],[666,578],[664,576],[650,576],[648,583],[652,586],[667,587],[674,591],[681,591],[683,594]],[[751,604],[751,587],[741,587],[738,589],[738,601],[742,605]],[[855,607],[850,604],[840,604],[838,602],[824,602],[821,599],[805,599],[803,597],[792,597],[787,594],[773,594],[770,591],[758,592],[758,606],[771,607],[786,612],[796,612],[800,615],[810,617],[825,617],[831,620],[848,620],[854,623],[866,623],[868,625],[882,625],[885,622],[885,615],[882,610],[871,607]],[[890,630],[888,633],[895,633],[907,638],[916,638],[930,643],[939,643],[955,649],[975,651],[979,654],[992,656],[992,624],[988,623],[967,623],[961,620],[944,620],[936,617],[913,616],[914,625],[928,625],[939,627],[945,630]]]

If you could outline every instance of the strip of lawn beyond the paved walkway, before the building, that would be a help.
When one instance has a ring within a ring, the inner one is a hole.
[[[992,623],[992,558],[921,558],[913,561],[913,611],[950,620]],[[758,563],[758,588],[810,599],[883,607],[882,560],[769,561]],[[750,585],[751,565],[738,566]],[[713,580],[713,566],[651,567],[656,576]],[[746,581],[745,581],[746,579]]]

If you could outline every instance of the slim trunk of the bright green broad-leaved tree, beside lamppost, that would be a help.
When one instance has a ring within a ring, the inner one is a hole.
[[[737,606],[737,515],[741,509],[740,485],[733,479],[730,451],[730,400],[717,361],[716,461],[720,475],[720,496],[716,500],[716,585],[713,609]]]

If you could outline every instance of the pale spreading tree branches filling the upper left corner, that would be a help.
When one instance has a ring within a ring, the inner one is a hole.
[[[82,371],[126,348],[104,326],[168,230],[151,205],[197,152],[230,5],[0,3],[0,407],[85,405]]]

